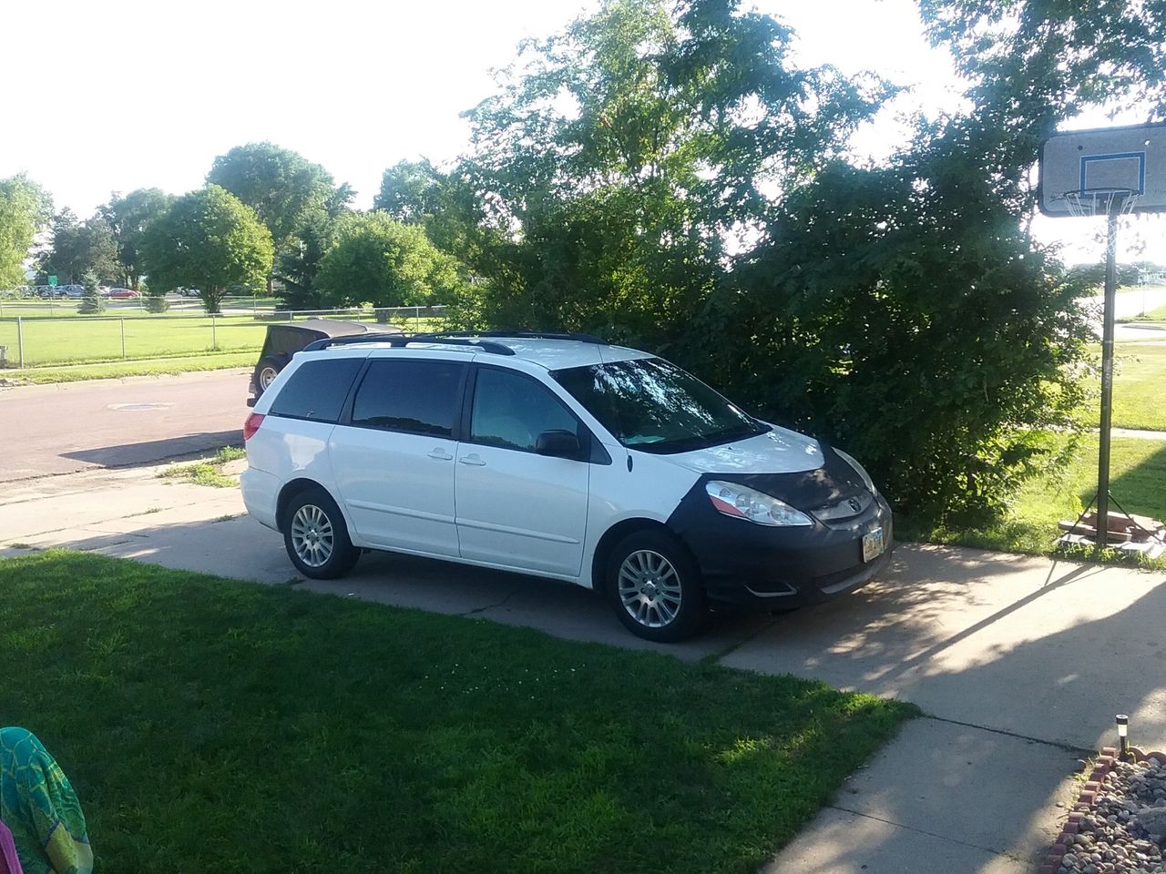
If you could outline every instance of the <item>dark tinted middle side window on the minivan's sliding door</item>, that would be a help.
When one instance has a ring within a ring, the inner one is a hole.
[[[352,424],[452,437],[464,369],[457,361],[372,361],[352,403]]]

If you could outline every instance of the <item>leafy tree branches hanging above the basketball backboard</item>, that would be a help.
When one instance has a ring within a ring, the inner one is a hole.
[[[1088,107],[1166,119],[1166,0],[920,0],[927,33],[970,83],[947,128],[1017,214],[1035,207],[1040,142]]]

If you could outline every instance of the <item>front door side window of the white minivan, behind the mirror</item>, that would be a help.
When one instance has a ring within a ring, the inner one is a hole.
[[[582,438],[580,421],[550,389],[518,373],[478,371],[470,416],[473,443],[533,452],[540,434],[556,430]]]

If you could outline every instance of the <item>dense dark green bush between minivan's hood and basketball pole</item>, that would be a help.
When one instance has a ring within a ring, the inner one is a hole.
[[[822,172],[676,353],[851,451],[899,509],[971,522],[1059,458],[1044,435],[1077,425],[1088,327],[1082,282],[958,161]]]

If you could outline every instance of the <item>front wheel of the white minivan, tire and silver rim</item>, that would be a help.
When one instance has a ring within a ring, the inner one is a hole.
[[[607,558],[604,582],[619,621],[645,640],[684,640],[708,619],[700,569],[684,545],[665,531],[624,537]]]

